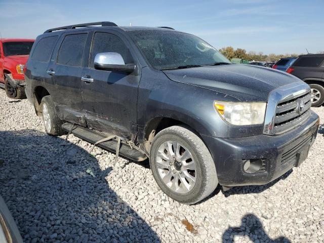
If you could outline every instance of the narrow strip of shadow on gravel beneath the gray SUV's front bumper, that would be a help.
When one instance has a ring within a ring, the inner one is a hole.
[[[230,195],[235,195],[235,194],[249,194],[249,193],[260,193],[263,192],[264,190],[269,189],[271,186],[273,186],[275,183],[277,183],[280,180],[285,180],[293,170],[290,170],[286,172],[284,175],[280,176],[279,178],[275,179],[274,181],[271,181],[268,184],[265,185],[260,185],[260,186],[237,186],[233,187],[228,191],[223,192],[225,197],[230,196]]]

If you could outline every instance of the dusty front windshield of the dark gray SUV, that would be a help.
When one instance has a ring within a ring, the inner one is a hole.
[[[173,31],[130,31],[149,64],[158,70],[231,64],[202,39]]]

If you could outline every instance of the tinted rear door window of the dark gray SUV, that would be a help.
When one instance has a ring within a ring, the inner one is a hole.
[[[59,50],[57,63],[81,66],[87,35],[86,33],[66,35]]]

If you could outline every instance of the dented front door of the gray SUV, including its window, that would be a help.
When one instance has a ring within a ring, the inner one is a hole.
[[[87,124],[96,130],[135,139],[140,75],[94,69],[96,54],[106,52],[119,53],[125,64],[134,63],[134,55],[123,39],[110,32],[94,33],[89,66],[83,72],[86,79],[82,82]]]

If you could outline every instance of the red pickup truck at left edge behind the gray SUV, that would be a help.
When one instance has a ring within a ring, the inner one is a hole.
[[[0,38],[0,87],[10,98],[26,98],[23,68],[33,43],[34,39]]]

